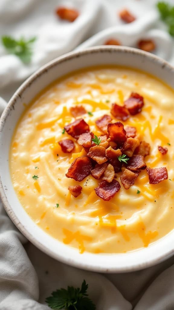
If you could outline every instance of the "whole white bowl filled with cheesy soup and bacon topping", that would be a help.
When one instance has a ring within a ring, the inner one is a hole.
[[[174,68],[128,47],[72,52],[15,92],[0,124],[0,194],[19,230],[101,272],[174,254]]]

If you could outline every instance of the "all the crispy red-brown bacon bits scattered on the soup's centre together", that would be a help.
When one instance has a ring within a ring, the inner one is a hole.
[[[137,93],[131,93],[124,101],[123,106],[112,104],[111,115],[125,121],[130,115],[141,112],[144,105],[143,97]],[[85,113],[82,106],[71,108],[73,116]],[[64,127],[67,134],[76,139],[77,144],[85,149],[86,155],[77,157],[69,167],[66,177],[78,182],[92,175],[101,182],[95,188],[96,194],[105,201],[109,201],[119,190],[120,183],[116,180],[117,173],[122,172],[120,181],[125,189],[130,188],[138,178],[141,170],[146,169],[150,184],[158,184],[168,178],[167,169],[150,168],[146,166],[144,158],[150,153],[150,144],[140,141],[135,127],[125,126],[118,121],[112,122],[110,115],[103,115],[96,120],[96,126],[102,132],[100,137],[94,139],[89,125],[83,118]],[[69,153],[75,148],[71,139],[59,141],[64,153]],[[158,147],[162,155],[167,153],[167,148]],[[125,159],[126,158],[126,159]],[[82,191],[80,185],[69,186],[68,190],[74,197],[78,197]]]

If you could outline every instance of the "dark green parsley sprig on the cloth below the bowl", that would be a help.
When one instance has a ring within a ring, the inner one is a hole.
[[[60,289],[52,292],[52,296],[46,298],[46,303],[52,309],[66,310],[96,310],[96,306],[86,294],[88,284],[84,280],[81,289],[68,286],[67,290]]]

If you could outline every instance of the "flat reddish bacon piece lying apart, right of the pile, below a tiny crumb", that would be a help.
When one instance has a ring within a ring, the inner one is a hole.
[[[150,184],[158,184],[163,180],[168,179],[168,173],[166,167],[161,168],[149,168],[147,167],[147,174],[149,176]]]

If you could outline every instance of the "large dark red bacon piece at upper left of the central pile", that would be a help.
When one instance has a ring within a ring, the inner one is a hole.
[[[71,135],[75,139],[78,139],[80,135],[89,132],[89,126],[83,118],[76,119],[75,122],[68,124],[64,127],[64,129],[66,130],[68,135]]]

